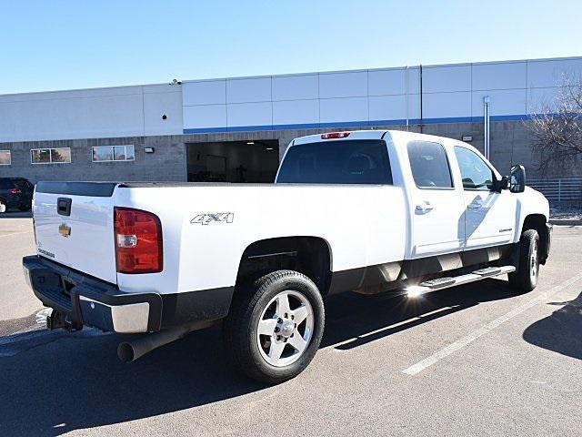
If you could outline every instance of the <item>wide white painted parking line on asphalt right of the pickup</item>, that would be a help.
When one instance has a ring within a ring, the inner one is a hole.
[[[499,325],[501,325],[502,323],[505,323],[507,320],[511,320],[514,317],[516,317],[517,315],[524,312],[525,310],[529,310],[530,308],[536,306],[538,303],[541,303],[544,300],[547,300],[548,298],[550,298],[554,294],[556,294],[558,291],[564,290],[567,286],[572,285],[574,282],[576,282],[579,279],[582,279],[582,273],[578,273],[576,276],[574,276],[570,279],[567,279],[566,281],[562,282],[561,284],[558,284],[553,289],[547,291],[547,293],[540,294],[536,299],[529,300],[528,302],[524,303],[523,305],[518,306],[516,309],[511,310],[511,311],[507,312],[507,314],[497,318],[496,320],[490,321],[489,323],[487,323],[487,325],[483,326],[482,328],[479,328],[478,330],[474,330],[473,332],[471,332],[467,336],[463,337],[462,339],[459,339],[459,340],[455,341],[454,343],[449,344],[446,348],[441,349],[440,351],[437,351],[437,353],[435,353],[434,355],[431,355],[430,357],[426,358],[425,360],[418,361],[416,364],[413,364],[412,366],[406,368],[402,372],[406,373],[407,375],[416,375],[416,373],[424,371],[427,367],[432,366],[433,364],[437,363],[438,361],[442,360],[443,358],[446,358],[450,354],[455,353],[459,349],[464,348],[465,346],[467,346],[467,344],[477,340],[482,335],[487,334],[487,332],[489,332],[491,330],[495,330]]]

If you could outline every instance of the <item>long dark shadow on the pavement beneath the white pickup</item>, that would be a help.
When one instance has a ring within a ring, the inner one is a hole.
[[[336,296],[326,301],[322,348],[355,348],[479,302],[506,299],[512,292],[505,281],[486,279],[478,290],[474,284],[444,290],[414,304],[394,294]],[[117,360],[120,336],[115,334],[37,331],[35,336],[45,340],[26,343],[30,335],[0,338],[0,435],[60,435],[267,388],[231,370],[220,327],[194,332],[129,364]],[[16,351],[19,341],[27,346]],[[300,378],[290,383],[302,383]]]

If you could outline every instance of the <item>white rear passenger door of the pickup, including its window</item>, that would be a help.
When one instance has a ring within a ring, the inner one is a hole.
[[[465,205],[461,189],[454,186],[445,147],[433,141],[414,140],[408,142],[406,152],[414,181],[409,184],[411,257],[461,251]]]

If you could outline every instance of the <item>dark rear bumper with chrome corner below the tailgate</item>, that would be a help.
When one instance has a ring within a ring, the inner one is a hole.
[[[157,293],[125,293],[115,285],[37,256],[25,257],[23,268],[35,296],[73,326],[120,333],[161,328],[162,298]]]

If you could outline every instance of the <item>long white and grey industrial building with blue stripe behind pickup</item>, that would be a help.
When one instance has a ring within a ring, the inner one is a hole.
[[[294,137],[391,128],[488,145],[500,171],[539,178],[527,117],[564,76],[582,57],[4,95],[0,177],[268,182]]]

